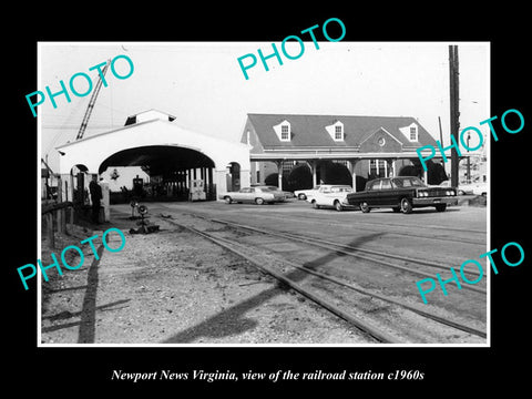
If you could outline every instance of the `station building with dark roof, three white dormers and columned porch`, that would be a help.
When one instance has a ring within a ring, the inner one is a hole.
[[[436,140],[410,116],[249,113],[241,141],[249,147],[252,184],[349,184],[361,191],[377,177],[447,180],[440,163],[429,161],[428,172],[421,167],[416,149],[436,146]]]

